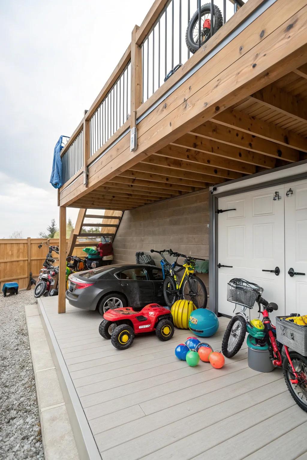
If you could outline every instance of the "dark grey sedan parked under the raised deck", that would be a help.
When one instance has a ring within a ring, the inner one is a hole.
[[[141,309],[152,302],[165,305],[162,270],[150,265],[118,264],[72,273],[66,299],[74,307],[96,310]]]

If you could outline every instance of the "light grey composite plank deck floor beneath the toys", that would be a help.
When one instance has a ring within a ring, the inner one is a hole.
[[[43,305],[103,460],[307,460],[307,414],[279,369],[249,368],[246,343],[222,369],[191,368],[174,356],[189,331],[119,351],[99,335],[98,312],[67,303],[58,315],[55,297]],[[205,339],[218,351],[229,319],[219,321]]]

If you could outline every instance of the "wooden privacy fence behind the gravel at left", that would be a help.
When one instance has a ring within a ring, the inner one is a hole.
[[[32,276],[37,278],[48,252],[48,247],[45,244],[42,245],[41,249],[38,245],[45,242],[48,243],[48,246],[58,246],[58,238],[49,240],[41,238],[0,240],[0,290],[3,283],[13,281],[19,284],[19,289],[26,288],[29,283],[30,271]],[[56,253],[52,255],[54,259],[58,259]],[[76,247],[73,255],[84,257],[86,254],[81,247]],[[58,265],[58,262],[55,265]]]

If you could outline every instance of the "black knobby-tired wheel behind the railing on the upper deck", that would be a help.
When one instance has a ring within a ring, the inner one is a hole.
[[[201,16],[202,16],[202,31],[201,31],[201,40],[202,40],[202,45],[206,43],[207,40],[210,38],[210,29],[203,29],[203,23],[206,19],[211,19],[211,4],[206,3],[206,5],[202,6],[201,9]],[[220,8],[216,5],[214,5],[214,20],[213,20],[213,31],[214,34],[217,30],[220,29],[223,25],[223,16],[220,11]],[[188,24],[188,27],[186,29],[185,33],[185,43],[188,49],[191,51],[191,53],[197,52],[199,46],[198,46],[198,11],[195,11],[193,16],[191,17],[191,20]]]

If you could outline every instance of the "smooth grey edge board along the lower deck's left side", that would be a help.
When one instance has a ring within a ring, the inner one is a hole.
[[[58,374],[59,384],[64,396],[64,402],[66,404],[72,431],[75,436],[75,443],[80,459],[101,460],[97,444],[95,443],[92,431],[88,425],[87,418],[84,414],[77,392],[75,391],[75,386],[70,378],[62,352],[58,346],[58,342],[46,315],[44,305],[40,298],[37,300],[42,326],[44,328],[55,369]]]

